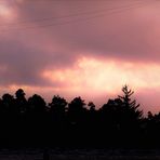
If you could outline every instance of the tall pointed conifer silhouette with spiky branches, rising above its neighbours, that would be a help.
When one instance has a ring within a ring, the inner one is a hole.
[[[139,104],[136,104],[136,101],[132,99],[134,91],[129,89],[128,85],[124,85],[122,88],[122,92],[123,95],[118,96],[121,101],[121,114],[119,115],[121,136],[126,139],[126,144],[134,144],[142,137],[141,125],[143,120],[143,111],[139,110]]]

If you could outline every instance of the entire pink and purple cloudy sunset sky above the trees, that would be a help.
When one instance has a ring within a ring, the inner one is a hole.
[[[160,1],[0,0],[0,95],[23,88],[101,107],[128,84],[160,111]]]

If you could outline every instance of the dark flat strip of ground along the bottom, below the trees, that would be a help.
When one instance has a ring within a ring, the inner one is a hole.
[[[160,160],[160,149],[50,149],[50,160]],[[1,149],[0,160],[44,160],[43,149]]]

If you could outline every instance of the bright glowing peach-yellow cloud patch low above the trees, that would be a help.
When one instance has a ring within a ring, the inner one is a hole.
[[[125,83],[135,90],[160,86],[160,76],[157,72],[160,72],[160,66],[155,64],[148,66],[82,57],[74,68],[45,70],[42,76],[52,82],[61,82],[62,90],[85,94],[91,91],[93,94],[117,94]]]

